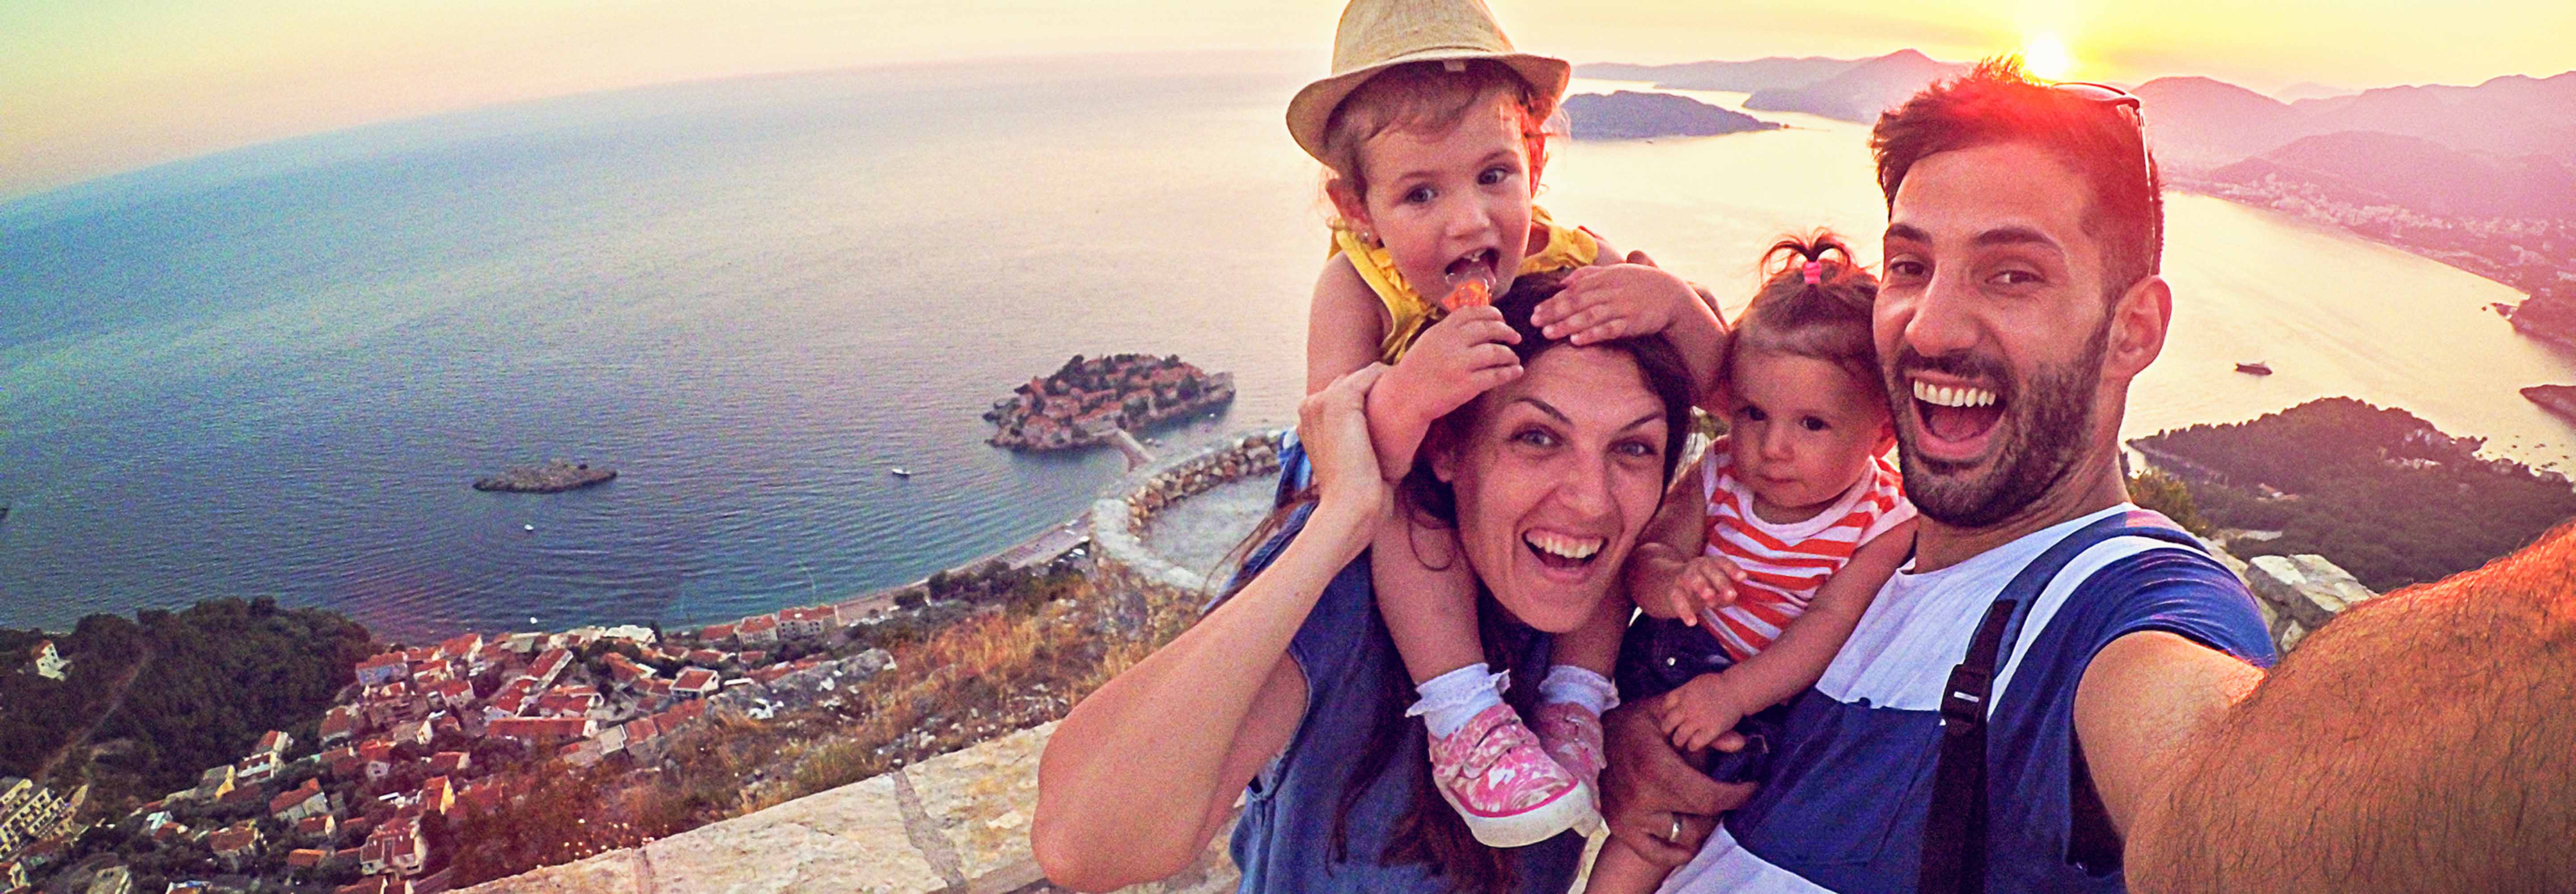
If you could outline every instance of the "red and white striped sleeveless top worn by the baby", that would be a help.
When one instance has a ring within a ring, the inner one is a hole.
[[[1914,518],[1904,479],[1888,456],[1870,459],[1870,471],[1852,490],[1808,520],[1775,526],[1754,515],[1754,495],[1736,479],[1731,438],[1708,446],[1700,461],[1700,495],[1708,500],[1708,554],[1744,567],[1736,603],[1718,608],[1713,631],[1726,654],[1747,660],[1762,652],[1806,613],[1816,587],[1852,562],[1852,551],[1888,528]]]

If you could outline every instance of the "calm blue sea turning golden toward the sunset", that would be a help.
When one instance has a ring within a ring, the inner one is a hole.
[[[1038,536],[1115,451],[979,417],[1069,356],[1177,353],[1293,420],[1321,175],[1280,111],[1321,57],[863,67],[371,124],[0,204],[0,626],[204,598],[379,636],[690,626]],[[1579,80],[1574,90],[1643,85]],[[1736,93],[1687,93],[1739,108]],[[1865,129],[1561,142],[1540,204],[1749,296],[1783,232],[1875,260]],[[2169,193],[2174,332],[2130,435],[2349,394],[2576,471],[2514,389],[2576,356],[2506,286]],[[2244,376],[2267,361],[2272,376]],[[489,495],[544,459],[618,469]],[[912,477],[896,477],[891,469]]]

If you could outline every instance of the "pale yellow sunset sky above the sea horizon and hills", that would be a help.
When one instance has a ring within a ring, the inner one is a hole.
[[[1489,0],[1574,62],[2014,52],[2257,90],[2576,70],[2568,0]],[[0,198],[544,95],[948,59],[1332,52],[1334,0],[8,0]],[[1293,57],[1291,57],[1293,59]]]

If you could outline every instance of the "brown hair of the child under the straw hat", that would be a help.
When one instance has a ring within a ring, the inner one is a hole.
[[[1368,139],[1396,129],[1448,131],[1497,90],[1520,111],[1530,188],[1538,188],[1538,170],[1548,165],[1548,116],[1556,111],[1556,98],[1540,95],[1520,80],[1520,72],[1494,59],[1466,59],[1455,70],[1448,62],[1406,62],[1350,90],[1324,124],[1324,188],[1345,188],[1352,198],[1368,196],[1368,178],[1360,173],[1360,147]]]

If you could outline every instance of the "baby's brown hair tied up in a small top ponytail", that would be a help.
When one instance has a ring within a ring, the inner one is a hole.
[[[1734,386],[1734,361],[1747,350],[1785,353],[1834,363],[1857,381],[1862,392],[1886,402],[1878,386],[1878,343],[1870,330],[1870,304],[1878,301],[1878,276],[1852,260],[1852,247],[1832,229],[1806,237],[1783,237],[1762,252],[1762,291],[1754,291],[1744,319],[1736,319],[1726,343],[1726,371],[1721,386]]]

